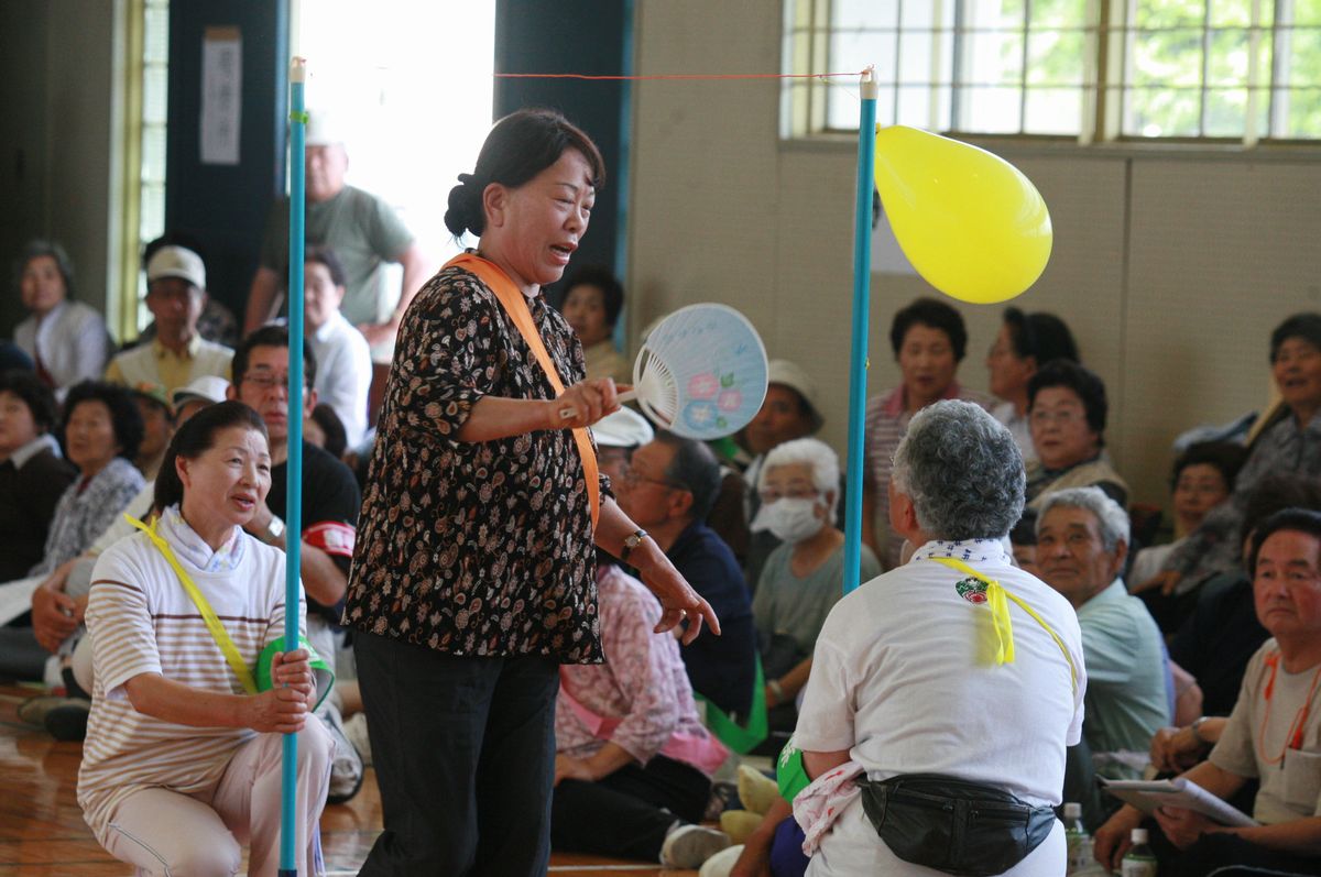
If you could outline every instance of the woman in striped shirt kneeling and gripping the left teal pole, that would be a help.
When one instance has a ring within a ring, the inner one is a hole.
[[[238,402],[206,408],[170,442],[160,518],[96,561],[78,803],[140,874],[232,874],[244,841],[248,873],[275,874],[285,733],[297,734],[297,869],[313,873],[332,742],[306,721],[310,655],[280,651],[284,552],[243,530],[269,486],[262,417]],[[303,600],[296,612],[305,621]]]

